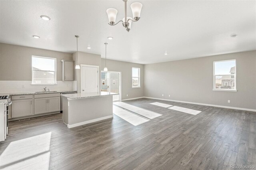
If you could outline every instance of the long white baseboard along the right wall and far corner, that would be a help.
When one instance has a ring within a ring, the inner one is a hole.
[[[165,100],[165,101],[174,101],[174,102],[180,102],[180,103],[190,103],[194,105],[204,105],[204,106],[212,106],[212,107],[221,107],[221,108],[227,108],[227,109],[237,109],[242,111],[252,111],[256,112],[256,109],[246,109],[246,108],[240,108],[240,107],[230,107],[230,106],[221,106],[221,105],[211,105],[211,104],[205,104],[205,103],[195,103],[190,101],[178,101],[178,100],[170,100],[170,99],[161,99],[161,98],[155,98],[155,97],[138,97],[134,99],[140,99],[140,98],[148,98],[148,99],[156,99],[156,100]],[[132,100],[132,99],[125,99],[125,100]],[[122,100],[124,101],[124,100]]]

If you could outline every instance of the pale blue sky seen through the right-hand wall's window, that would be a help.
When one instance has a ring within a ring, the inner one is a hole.
[[[215,75],[225,75],[225,74],[230,74],[230,69],[231,67],[236,66],[236,61],[220,61],[220,62],[215,62]]]

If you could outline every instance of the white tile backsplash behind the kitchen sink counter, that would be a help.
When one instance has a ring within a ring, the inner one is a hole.
[[[0,94],[44,91],[44,87],[50,91],[64,91],[74,89],[73,85],[73,81],[57,81],[56,85],[31,85],[31,81],[0,81]]]

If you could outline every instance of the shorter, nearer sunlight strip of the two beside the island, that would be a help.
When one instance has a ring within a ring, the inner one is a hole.
[[[149,121],[143,117],[140,117],[138,115],[130,113],[120,107],[115,106],[115,105],[113,105],[113,113],[134,126],[137,126],[137,125],[140,125],[142,123]]]

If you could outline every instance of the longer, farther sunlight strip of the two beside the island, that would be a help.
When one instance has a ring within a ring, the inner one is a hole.
[[[146,109],[142,109],[140,107],[136,107],[136,106],[133,106],[133,105],[129,105],[127,103],[124,103],[124,102],[115,102],[114,105],[117,105],[117,106],[120,106],[124,109],[127,109],[129,111],[132,111],[138,115],[141,115],[143,117],[146,117],[148,119],[154,119],[156,117],[160,117],[162,116],[161,114],[159,113],[156,113],[156,112],[152,112],[152,111],[148,111]]]

